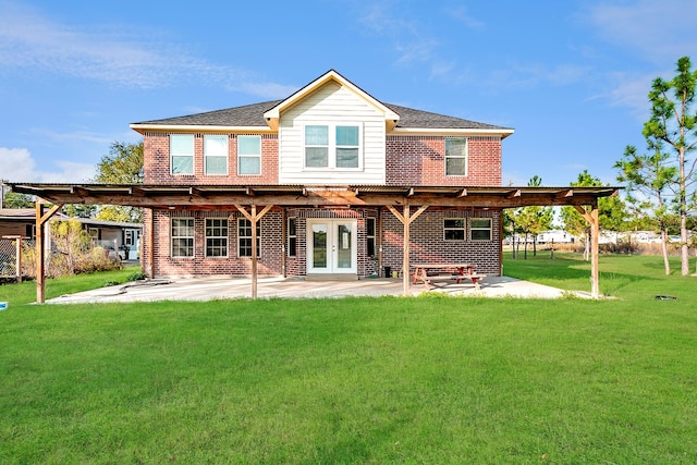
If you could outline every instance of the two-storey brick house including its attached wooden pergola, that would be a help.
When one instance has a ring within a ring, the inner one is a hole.
[[[508,127],[381,102],[331,70],[286,99],[131,124],[144,183],[21,184],[53,204],[144,207],[150,277],[363,279],[416,262],[502,272],[502,211],[571,205],[599,231],[617,187],[501,185]],[[591,260],[598,295],[597,244]],[[42,278],[41,278],[42,279]],[[42,302],[42,281],[37,280]]]

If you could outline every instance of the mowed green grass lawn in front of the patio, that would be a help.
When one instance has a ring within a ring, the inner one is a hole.
[[[697,278],[600,268],[614,298],[11,304],[0,463],[695,463]]]

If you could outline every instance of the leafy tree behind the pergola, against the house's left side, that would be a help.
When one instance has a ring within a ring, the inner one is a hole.
[[[109,155],[97,164],[94,182],[100,184],[142,184],[143,183],[143,142],[129,144],[114,142]],[[97,219],[139,223],[143,209],[120,205],[101,206]]]

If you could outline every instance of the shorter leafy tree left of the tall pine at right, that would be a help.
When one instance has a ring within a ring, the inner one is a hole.
[[[639,155],[636,147],[627,146],[624,156],[614,168],[620,171],[617,181],[627,184],[627,201],[635,206],[635,211],[650,212],[656,219],[658,231],[661,234],[661,252],[665,274],[671,273],[668,260],[668,219],[670,215],[667,203],[667,191],[677,180],[677,169],[671,164],[668,154],[660,148],[660,142],[651,143],[655,150],[650,154]],[[638,198],[638,193],[641,199]]]

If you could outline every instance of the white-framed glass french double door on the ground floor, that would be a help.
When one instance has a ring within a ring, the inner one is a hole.
[[[356,221],[307,220],[307,272],[356,273]]]

